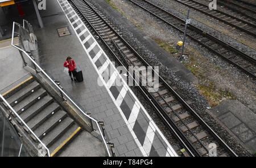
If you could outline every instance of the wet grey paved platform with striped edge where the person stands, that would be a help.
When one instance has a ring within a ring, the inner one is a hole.
[[[118,71],[114,68],[109,79],[102,77],[102,72],[110,66],[114,67],[113,62],[69,3],[63,0],[47,1],[47,10],[40,11],[40,15],[44,28],[39,28],[36,19],[28,20],[38,38],[39,52],[35,56],[36,61],[49,75],[60,81],[67,94],[86,113],[104,121],[105,131],[114,143],[116,156],[178,156],[176,149],[168,143],[133,91],[123,82]],[[20,57],[18,52],[13,55]],[[75,83],[64,74],[63,64],[68,56],[81,68],[83,82]],[[16,61],[18,63],[20,60]],[[20,69],[23,72],[23,68]],[[19,70],[13,68],[13,71]],[[6,76],[1,76],[1,79],[2,77]],[[122,85],[112,85],[115,79],[121,80]],[[1,83],[1,88],[6,85]],[[67,150],[63,149],[63,156],[86,156],[82,147],[82,137],[86,135],[80,133],[80,136],[80,139],[65,147]]]

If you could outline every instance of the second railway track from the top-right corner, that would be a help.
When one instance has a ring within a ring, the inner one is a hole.
[[[200,11],[201,13],[210,16],[211,18],[222,21],[225,24],[228,24],[236,29],[239,29],[242,32],[245,32],[251,36],[256,37],[256,25],[255,18],[253,16],[247,16],[245,19],[239,19],[233,15],[229,15],[226,12],[222,12],[218,10],[209,10],[208,5],[204,5],[203,3],[194,1],[194,0],[175,0],[189,8],[193,8],[194,10]],[[227,9],[228,10],[228,9]],[[254,20],[253,23],[247,21],[248,18]]]

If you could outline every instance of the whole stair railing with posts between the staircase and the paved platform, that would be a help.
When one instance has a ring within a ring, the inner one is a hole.
[[[41,74],[43,74],[44,76],[46,76],[47,79],[48,79],[49,81],[51,81],[51,83],[52,83],[53,85],[55,85],[55,87],[56,87],[56,88],[59,90],[59,92],[61,93],[60,96],[63,98],[63,100],[69,100],[70,102],[72,102],[73,105],[75,105],[75,107],[86,117],[86,119],[89,120],[89,122],[91,123],[92,130],[93,130],[93,131],[98,130],[98,132],[100,132],[100,136],[101,136],[102,141],[104,142],[104,147],[106,148],[106,151],[108,152],[108,156],[109,156],[109,157],[115,156],[114,144],[113,144],[113,143],[110,143],[109,141],[108,141],[108,142],[106,141],[106,136],[105,136],[105,129],[104,129],[104,127],[102,127],[102,125],[99,124],[98,120],[96,120],[96,119],[90,117],[90,114],[85,113],[85,112],[67,95],[67,93],[65,93],[65,92],[63,91],[63,89],[61,89],[60,86],[59,86],[58,84],[56,84],[56,82],[55,82],[53,79],[51,79],[51,77],[38,65],[38,63],[35,62],[35,59],[34,59],[33,57],[31,58],[31,55],[32,55],[32,54],[30,53],[30,51],[26,51],[26,48],[24,47],[23,41],[21,40],[22,35],[21,35],[21,33],[19,33],[19,32],[22,32],[22,33],[27,32],[28,34],[30,34],[31,32],[34,32],[34,31],[31,31],[31,28],[32,28],[32,27],[31,27],[31,25],[30,25],[26,20],[23,21],[23,26],[25,26],[25,25],[27,25],[27,27],[28,27],[29,29],[26,29],[26,28],[22,27],[19,23],[16,23],[15,21],[13,22],[13,33],[12,33],[11,45],[12,45],[14,48],[16,48],[16,49],[19,50],[20,55],[22,56],[23,61],[25,60],[24,57],[23,57],[23,54],[24,54],[24,55],[26,55],[26,57],[32,62],[33,66],[35,67],[35,71],[36,71],[37,73],[41,73]],[[19,32],[16,32],[16,31],[15,31],[15,27],[16,27],[16,28],[18,27],[18,31],[19,31]],[[20,30],[22,30],[22,31],[20,31]],[[33,34],[34,34],[34,33],[33,33]],[[14,45],[14,43],[13,43],[13,41],[14,41],[14,35],[17,35],[17,36],[19,37],[19,45],[20,45],[21,47],[20,47],[20,46],[17,46],[17,45]],[[26,36],[25,38],[27,38],[27,35],[25,35],[25,36]],[[27,40],[27,39],[26,39],[26,40]],[[30,41],[31,41],[31,40],[30,40]],[[33,41],[32,41],[32,42],[33,42]],[[22,53],[23,53],[23,54],[22,54]],[[27,65],[26,62],[24,62],[24,63],[25,63],[25,65]],[[65,98],[64,98],[64,97],[65,97]],[[100,123],[101,123],[101,122],[100,122]],[[96,124],[96,127],[93,126],[94,124]],[[108,145],[110,145],[110,149],[112,150],[112,151],[111,151],[111,154],[110,154],[110,150],[109,150],[109,148],[108,148]]]

